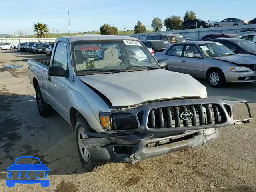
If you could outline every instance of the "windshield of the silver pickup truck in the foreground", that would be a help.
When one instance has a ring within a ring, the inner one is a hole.
[[[160,66],[136,40],[77,41],[72,44],[78,75],[158,69]]]

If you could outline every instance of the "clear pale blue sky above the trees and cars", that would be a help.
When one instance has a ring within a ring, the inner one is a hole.
[[[2,0],[0,34],[23,31],[34,34],[33,24],[48,25],[50,33],[99,30],[104,23],[118,30],[132,27],[140,20],[151,29],[154,17],[164,19],[172,15],[183,18],[186,10],[196,12],[202,20],[256,17],[256,0]],[[165,30],[165,27],[163,28]]]

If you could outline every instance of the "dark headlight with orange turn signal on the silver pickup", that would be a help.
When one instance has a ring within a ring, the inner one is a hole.
[[[100,124],[105,130],[132,130],[138,128],[135,116],[131,113],[100,113]]]

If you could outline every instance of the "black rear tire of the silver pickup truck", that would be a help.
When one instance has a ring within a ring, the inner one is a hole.
[[[52,106],[46,103],[42,97],[39,86],[36,86],[36,104],[38,112],[42,117],[48,117],[52,115]]]

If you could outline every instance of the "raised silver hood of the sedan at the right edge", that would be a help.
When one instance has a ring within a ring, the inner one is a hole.
[[[214,57],[213,59],[218,59],[238,65],[256,64],[256,56],[248,54],[235,54],[230,56]]]

